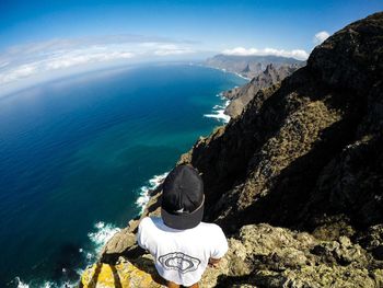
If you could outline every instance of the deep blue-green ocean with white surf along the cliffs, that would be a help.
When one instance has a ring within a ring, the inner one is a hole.
[[[244,79],[190,65],[118,68],[0,99],[0,287],[62,287],[228,118]]]

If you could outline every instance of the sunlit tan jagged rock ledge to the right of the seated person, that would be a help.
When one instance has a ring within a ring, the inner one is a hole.
[[[323,253],[349,261],[339,264]],[[229,270],[219,276],[217,287],[381,287],[382,267],[364,268],[365,255],[345,237],[320,241],[286,228],[245,226],[230,240]]]

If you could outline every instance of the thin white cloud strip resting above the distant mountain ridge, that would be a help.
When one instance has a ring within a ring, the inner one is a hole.
[[[237,56],[274,55],[274,56],[282,56],[282,57],[293,57],[299,60],[306,60],[309,58],[309,54],[303,49],[294,49],[294,50],[285,50],[285,49],[275,49],[275,48],[264,48],[264,49],[248,48],[247,49],[244,47],[236,47],[233,49],[225,49],[222,51],[222,54],[237,55]]]

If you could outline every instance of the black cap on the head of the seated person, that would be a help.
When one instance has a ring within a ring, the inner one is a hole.
[[[162,186],[161,216],[174,229],[190,229],[204,217],[204,182],[198,171],[183,164],[173,169]]]

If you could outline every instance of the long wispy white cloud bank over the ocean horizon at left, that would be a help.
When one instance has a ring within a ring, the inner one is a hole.
[[[34,76],[49,76],[69,68],[193,54],[190,44],[160,37],[112,35],[13,46],[0,53],[0,85],[14,85]]]

